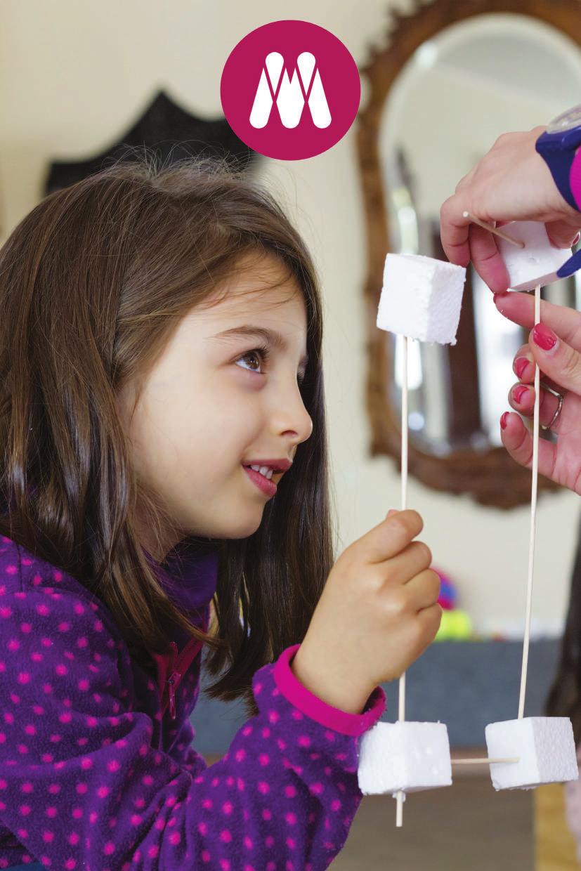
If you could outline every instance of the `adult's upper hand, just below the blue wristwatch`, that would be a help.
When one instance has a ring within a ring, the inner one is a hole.
[[[450,263],[466,267],[472,260],[493,293],[509,287],[496,237],[471,224],[463,212],[489,224],[544,221],[557,248],[571,247],[581,229],[581,212],[563,199],[549,167],[535,151],[537,138],[545,129],[540,126],[528,132],[503,133],[458,182],[456,192],[440,210],[442,244]]]

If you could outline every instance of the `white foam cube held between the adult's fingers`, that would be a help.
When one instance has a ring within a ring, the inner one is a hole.
[[[503,224],[503,233],[524,242],[524,248],[497,236],[500,256],[509,273],[511,290],[534,290],[557,281],[557,269],[572,255],[571,248],[551,245],[544,223],[537,220],[515,220]]]

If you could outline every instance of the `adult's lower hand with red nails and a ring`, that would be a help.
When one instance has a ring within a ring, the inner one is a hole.
[[[563,405],[551,432],[557,442],[539,440],[538,470],[541,475],[581,495],[581,313],[573,308],[541,302],[541,323],[534,329],[535,300],[529,294],[511,292],[494,298],[504,317],[521,327],[530,328],[529,342],[520,348],[513,362],[518,382],[509,392],[512,408],[532,417],[535,389],[535,362],[541,370],[539,419],[548,426],[558,408],[558,397],[545,387],[564,396]],[[504,447],[517,463],[530,469],[532,436],[518,415],[505,413],[501,418]]]

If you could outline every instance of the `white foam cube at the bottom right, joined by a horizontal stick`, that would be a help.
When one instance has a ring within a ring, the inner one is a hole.
[[[484,730],[495,789],[534,789],[578,780],[577,750],[569,717],[523,717],[490,723]]]

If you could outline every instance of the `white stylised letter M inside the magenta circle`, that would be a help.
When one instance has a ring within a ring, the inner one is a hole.
[[[318,69],[313,76],[314,55],[310,51],[303,51],[297,57],[297,66],[301,74],[304,94],[301,91],[301,82],[296,70],[293,72],[293,78],[289,79],[285,69],[277,95],[276,89],[280,80],[280,72],[284,65],[284,58],[278,51],[271,51],[267,55],[265,64],[267,70],[265,71],[263,68],[260,75],[260,82],[256,89],[252,111],[250,112],[250,124],[258,128],[267,125],[270,111],[273,108],[274,95],[280,120],[285,127],[296,127],[298,125],[305,105],[305,98],[307,98],[308,108],[311,110],[311,118],[313,118],[315,127],[328,127],[331,123],[331,113],[328,109],[327,98],[325,97]]]

